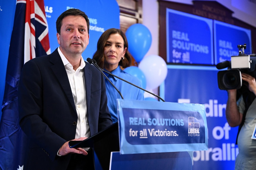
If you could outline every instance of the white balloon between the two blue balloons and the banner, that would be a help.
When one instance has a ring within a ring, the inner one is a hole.
[[[144,57],[138,67],[144,73],[149,89],[157,88],[167,76],[166,62],[158,55]]]

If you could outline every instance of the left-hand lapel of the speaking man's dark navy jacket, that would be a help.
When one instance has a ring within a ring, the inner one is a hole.
[[[53,66],[51,66],[53,73],[56,75],[57,79],[59,80],[61,87],[63,88],[65,94],[67,95],[69,102],[72,105],[72,108],[76,112],[75,103],[74,103],[74,99],[73,99],[73,95],[72,95],[72,90],[70,88],[69,80],[67,77],[67,72],[65,70],[65,67],[63,65],[63,62],[61,60],[58,50],[56,49],[50,55],[51,55],[50,61],[53,63]]]

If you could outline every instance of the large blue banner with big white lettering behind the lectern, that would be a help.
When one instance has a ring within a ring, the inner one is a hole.
[[[193,169],[233,170],[238,154],[237,127],[230,127],[225,117],[227,91],[219,90],[214,66],[167,65],[160,97],[167,102],[200,103],[205,106],[208,150],[194,151]]]

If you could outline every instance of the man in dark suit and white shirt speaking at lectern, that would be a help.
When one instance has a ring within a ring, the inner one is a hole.
[[[89,19],[69,9],[56,29],[59,48],[25,63],[20,75],[20,127],[29,138],[24,169],[94,169],[90,149],[68,145],[112,124],[104,77],[82,58]]]

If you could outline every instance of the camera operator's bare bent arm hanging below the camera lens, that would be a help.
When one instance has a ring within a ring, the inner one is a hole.
[[[226,118],[230,127],[236,127],[242,122],[243,114],[239,113],[236,104],[236,90],[227,90]]]

